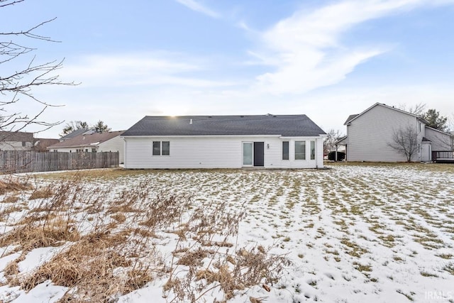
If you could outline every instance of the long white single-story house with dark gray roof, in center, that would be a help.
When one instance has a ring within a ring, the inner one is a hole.
[[[126,168],[323,167],[306,115],[145,116],[122,135]]]

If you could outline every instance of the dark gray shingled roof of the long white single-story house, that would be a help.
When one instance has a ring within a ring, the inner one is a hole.
[[[192,122],[192,123],[191,123]],[[319,136],[306,115],[145,116],[122,136]]]

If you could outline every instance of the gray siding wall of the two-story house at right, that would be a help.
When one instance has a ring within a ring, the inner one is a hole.
[[[392,134],[399,128],[406,126],[414,127],[418,133],[418,142],[424,136],[425,125],[419,123],[416,116],[406,114],[387,106],[376,104],[365,111],[347,126],[348,161],[371,161],[371,162],[403,162],[404,155],[396,152],[389,146],[392,143]],[[421,158],[419,150],[416,151],[412,160],[419,161]]]

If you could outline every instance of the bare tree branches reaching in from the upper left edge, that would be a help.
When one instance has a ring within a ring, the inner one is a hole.
[[[7,12],[8,9],[12,9],[12,6],[23,1],[25,0],[0,0],[0,9]],[[60,81],[59,76],[55,74],[57,70],[62,68],[63,60],[39,63],[36,56],[33,55],[36,51],[35,48],[16,43],[13,40],[44,40],[49,43],[57,43],[59,41],[35,33],[38,28],[53,20],[55,18],[43,21],[25,31],[0,32],[0,131],[21,131],[31,124],[42,126],[43,131],[61,123],[61,121],[50,122],[40,119],[45,109],[55,105],[36,97],[33,94],[33,88],[48,85],[75,85],[74,82]],[[30,58],[26,65],[16,64],[18,62],[16,59],[27,56],[30,56]],[[8,66],[9,68],[6,68]],[[31,114],[13,109],[13,104],[19,102],[23,103],[21,104],[22,109],[29,108],[30,106],[26,105],[26,101],[40,104],[40,110]]]

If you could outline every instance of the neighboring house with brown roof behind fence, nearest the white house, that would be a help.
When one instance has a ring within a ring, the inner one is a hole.
[[[48,146],[48,150],[63,153],[78,152],[118,152],[120,163],[123,163],[124,142],[120,135],[123,131],[109,131],[106,133],[82,132],[72,138],[66,138],[54,145]],[[61,138],[60,138],[61,140]]]

